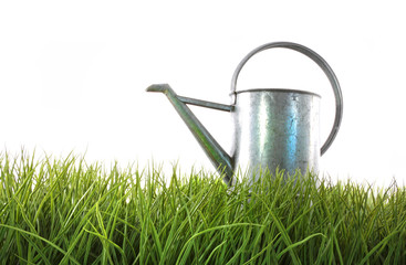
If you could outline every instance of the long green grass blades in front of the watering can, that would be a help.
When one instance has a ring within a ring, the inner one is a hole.
[[[406,189],[0,156],[1,264],[406,264]],[[166,179],[168,181],[166,181]],[[241,178],[242,179],[242,178]]]

